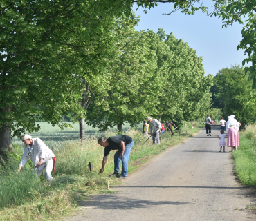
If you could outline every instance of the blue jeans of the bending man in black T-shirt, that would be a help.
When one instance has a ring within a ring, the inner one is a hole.
[[[130,144],[125,145],[125,153],[122,155],[122,158],[120,158],[120,153],[121,150],[116,151],[113,159],[115,162],[115,172],[114,173],[120,173],[120,164],[122,161],[122,173],[121,175],[127,176],[127,171],[128,171],[128,160],[129,160],[129,155],[131,152],[131,148],[134,146],[134,140]]]

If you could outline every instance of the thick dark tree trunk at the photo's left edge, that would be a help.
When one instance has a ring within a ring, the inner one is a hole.
[[[0,128],[0,155],[6,158],[5,151],[12,153],[12,131],[8,128],[8,124],[3,124]]]

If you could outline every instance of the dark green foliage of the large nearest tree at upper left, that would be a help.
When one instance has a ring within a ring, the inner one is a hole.
[[[129,11],[123,1],[1,1],[1,150],[11,151],[11,133],[39,130],[38,117],[66,126],[63,114],[84,116],[80,79],[101,84],[114,16]]]

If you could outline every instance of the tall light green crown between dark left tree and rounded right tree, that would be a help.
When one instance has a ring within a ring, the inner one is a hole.
[[[120,39],[120,56],[109,66],[107,95],[97,95],[86,115],[89,125],[106,130],[129,122],[135,126],[158,104],[156,91],[161,90],[161,77],[156,74],[156,55],[150,50],[147,32],[136,32],[138,20],[120,19],[115,30]],[[152,98],[153,97],[153,98]]]

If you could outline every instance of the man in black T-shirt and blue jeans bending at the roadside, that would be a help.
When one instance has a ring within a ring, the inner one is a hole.
[[[114,172],[111,175],[116,175],[120,179],[127,178],[128,160],[132,146],[134,146],[134,140],[127,135],[118,135],[109,137],[100,137],[98,140],[100,146],[104,146],[104,157],[102,160],[102,168],[100,173],[104,172],[104,167],[107,162],[107,156],[111,150],[118,150],[114,155]],[[122,161],[122,173],[120,174],[120,163]]]

